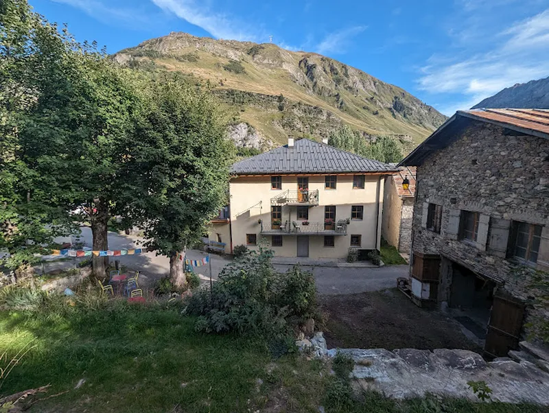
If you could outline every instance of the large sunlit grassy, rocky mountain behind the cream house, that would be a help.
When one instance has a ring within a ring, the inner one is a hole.
[[[277,45],[198,38],[172,32],[124,49],[130,67],[185,73],[213,87],[234,110],[230,134],[264,148],[296,137],[327,137],[346,123],[364,137],[392,135],[410,149],[445,121],[403,89],[346,64]]]

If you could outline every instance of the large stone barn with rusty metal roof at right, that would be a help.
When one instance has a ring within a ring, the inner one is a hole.
[[[526,308],[536,291],[520,271],[549,271],[549,110],[458,111],[399,166],[417,166],[406,290],[506,355],[525,313],[549,316]]]

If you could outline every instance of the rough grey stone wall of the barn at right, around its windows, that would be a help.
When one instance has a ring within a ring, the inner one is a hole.
[[[454,143],[425,159],[417,182],[414,252],[457,261],[504,283],[513,296],[528,298],[531,292],[525,280],[513,272],[517,263],[506,259],[501,244],[506,244],[507,235],[501,237],[500,224],[509,226],[516,220],[544,226],[537,268],[549,271],[544,264],[549,259],[549,140],[509,134],[500,126],[474,121]],[[443,207],[440,234],[422,225],[425,203]],[[483,244],[458,239],[456,215],[461,210],[484,215]],[[451,277],[443,275],[440,281],[439,302],[449,297]]]

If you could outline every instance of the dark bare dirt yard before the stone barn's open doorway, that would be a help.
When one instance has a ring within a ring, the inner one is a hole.
[[[399,290],[320,296],[327,316],[329,349],[467,349],[480,347],[463,335],[458,322],[440,311],[421,309]]]

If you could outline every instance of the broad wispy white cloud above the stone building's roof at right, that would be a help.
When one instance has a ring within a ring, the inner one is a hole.
[[[502,88],[549,75],[549,9],[515,22],[484,43],[487,49],[474,56],[432,56],[421,69],[422,90],[462,96],[459,102],[439,108],[447,115]]]

